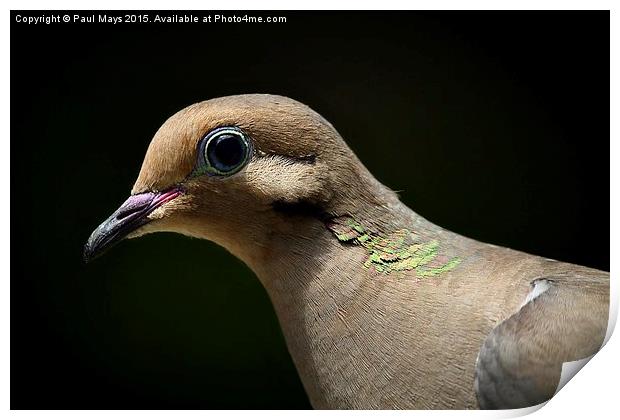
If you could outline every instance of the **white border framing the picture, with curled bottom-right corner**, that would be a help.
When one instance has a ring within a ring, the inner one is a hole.
[[[2,56],[9,57],[9,21],[10,9],[118,9],[118,10],[340,10],[357,8],[362,10],[387,10],[387,9],[416,9],[416,10],[564,10],[564,9],[578,9],[578,10],[611,10],[611,138],[617,139],[617,117],[618,117],[618,84],[615,77],[618,71],[618,54],[614,52],[614,48],[618,49],[620,43],[618,42],[618,23],[620,19],[617,16],[617,1],[549,1],[549,0],[521,0],[521,1],[395,1],[395,0],[382,0],[381,2],[373,3],[370,1],[336,1],[336,0],[314,0],[314,1],[298,1],[295,4],[291,4],[290,1],[284,0],[267,0],[258,2],[251,1],[183,1],[178,0],[175,2],[163,2],[163,1],[93,1],[88,4],[83,1],[58,1],[53,5],[46,1],[27,1],[7,2],[9,9],[6,10],[5,19],[2,21]],[[50,7],[51,6],[51,7]],[[171,7],[173,6],[173,7]],[[579,30],[576,28],[576,30]],[[6,61],[5,61],[6,63]],[[2,327],[2,345],[0,345],[0,353],[2,356],[2,365],[0,368],[0,387],[1,395],[0,401],[5,410],[9,409],[10,399],[10,354],[9,354],[9,316],[10,316],[10,283],[9,283],[9,206],[8,206],[8,191],[10,180],[10,146],[9,146],[9,112],[10,112],[10,79],[9,79],[9,66],[2,66],[3,80],[2,84],[2,97],[3,109],[0,113],[2,119],[2,127],[4,131],[4,138],[0,141],[0,159],[2,159],[2,180],[3,191],[5,191],[5,200],[0,206],[2,212],[0,217],[0,231],[3,233],[0,252],[0,267],[2,268],[2,316],[0,317],[0,323]],[[601,77],[605,77],[602,75]],[[587,139],[584,139],[584,147],[587,147]],[[618,169],[613,164],[617,161],[617,140],[611,144],[611,185],[617,186]],[[618,215],[618,199],[617,191],[614,192],[613,187],[611,191],[611,214]],[[611,272],[615,273],[618,269],[618,222],[617,217],[611,218]],[[14,228],[19,228],[14,226]],[[18,267],[16,269],[19,269]],[[612,276],[612,318],[617,318],[618,312],[618,287],[615,286],[614,277]],[[616,334],[617,335],[617,334]],[[581,372],[577,375],[577,378],[570,381],[559,393],[556,395],[547,405],[535,413],[531,414],[531,418],[579,418],[583,419],[586,416],[590,418],[611,418],[617,415],[617,403],[618,400],[618,357],[620,354],[620,345],[618,344],[617,337],[611,337],[607,345],[596,355],[593,360],[588,363]],[[14,372],[18,375],[19,372]],[[612,414],[613,413],[613,414]],[[381,412],[295,412],[297,417],[314,417],[317,415],[326,417],[352,417],[355,418],[372,418],[377,417],[401,417],[401,416],[415,416],[416,418],[505,418],[518,415],[516,412],[462,412],[462,411],[416,411],[416,412],[398,412],[398,411],[381,411]],[[524,413],[520,413],[524,414]],[[291,412],[286,411],[262,411],[262,412],[238,412],[238,411],[218,411],[203,413],[200,411],[178,411],[178,412],[164,412],[164,411],[55,411],[55,412],[43,412],[43,411],[12,411],[11,415],[16,418],[39,418],[45,417],[46,419],[83,419],[84,417],[94,419],[108,419],[110,416],[117,418],[135,418],[135,416],[146,415],[153,419],[169,418],[171,415],[181,416],[185,418],[200,418],[204,419],[206,415],[209,417],[216,416],[221,418],[236,418],[240,415],[252,416],[258,418],[286,418],[291,416]]]

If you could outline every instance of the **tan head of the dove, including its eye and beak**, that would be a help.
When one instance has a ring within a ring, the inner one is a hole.
[[[249,262],[264,258],[274,237],[307,235],[300,222],[394,197],[307,106],[273,95],[217,98],[162,125],[131,196],[95,229],[84,257],[125,237],[172,231],[217,242]]]

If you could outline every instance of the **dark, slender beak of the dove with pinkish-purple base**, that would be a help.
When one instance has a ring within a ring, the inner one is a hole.
[[[100,224],[84,246],[84,261],[95,259],[150,221],[153,210],[174,200],[182,190],[173,187],[163,192],[145,192],[130,196],[108,219]]]

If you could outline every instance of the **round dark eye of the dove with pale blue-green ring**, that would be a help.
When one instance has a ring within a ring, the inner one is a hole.
[[[203,160],[200,172],[232,175],[243,168],[250,158],[250,141],[236,127],[219,128],[208,133],[201,143]]]

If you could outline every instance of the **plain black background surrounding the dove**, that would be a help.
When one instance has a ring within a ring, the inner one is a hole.
[[[42,12],[11,15],[14,409],[309,407],[266,293],[217,245],[158,234],[81,262],[159,125],[211,97],[305,102],[431,221],[609,269],[608,12],[17,14]]]

